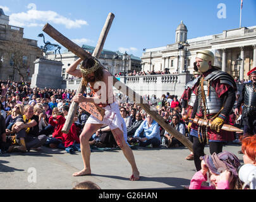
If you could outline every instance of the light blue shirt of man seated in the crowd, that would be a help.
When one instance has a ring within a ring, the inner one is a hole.
[[[140,133],[142,133],[143,130],[144,130],[143,135],[147,139],[150,140],[150,139],[155,137],[159,141],[161,141],[159,125],[158,125],[158,123],[155,120],[153,120],[152,126],[150,128],[149,128],[149,125],[147,124],[147,120],[143,121],[142,124],[140,124],[138,129],[135,131],[135,134],[134,134],[133,137],[140,136]]]

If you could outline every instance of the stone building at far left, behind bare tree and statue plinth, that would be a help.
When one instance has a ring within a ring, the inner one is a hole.
[[[9,25],[9,16],[0,8],[0,80],[31,81],[34,61],[42,54],[37,40],[23,38],[23,30]]]

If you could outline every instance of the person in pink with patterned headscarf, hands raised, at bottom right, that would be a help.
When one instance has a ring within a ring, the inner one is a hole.
[[[202,169],[193,175],[189,189],[241,189],[238,178],[239,159],[228,151],[201,157]],[[210,186],[202,186],[209,172]]]

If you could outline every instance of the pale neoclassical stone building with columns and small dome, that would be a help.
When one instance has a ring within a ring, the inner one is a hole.
[[[256,26],[224,30],[222,33],[187,39],[188,29],[181,21],[174,44],[147,49],[142,54],[142,71],[169,68],[171,73],[193,72],[198,50],[214,53],[215,65],[233,77],[248,79],[247,72],[256,66]],[[237,61],[242,59],[241,64]]]

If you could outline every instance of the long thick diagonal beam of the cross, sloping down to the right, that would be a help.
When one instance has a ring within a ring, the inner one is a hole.
[[[74,42],[69,40],[68,38],[64,37],[61,33],[59,33],[57,30],[55,30],[51,25],[46,24],[46,26],[43,28],[43,31],[46,32],[52,39],[59,42],[59,44],[66,47],[68,50],[73,52],[76,56],[81,57],[82,59],[86,59],[87,57],[93,58],[93,56],[90,56],[85,50],[83,50],[81,47],[76,45]],[[102,64],[99,64],[102,68]],[[104,68],[106,69],[106,68]],[[144,100],[140,95],[138,95],[136,92],[131,90],[128,86],[126,86],[124,83],[119,81],[115,76],[112,75],[111,77],[113,79],[113,85],[115,88],[120,90],[124,95],[127,95],[129,98],[133,100],[133,102],[137,103],[142,107],[142,109],[147,112],[147,114],[150,114],[152,118],[159,123],[159,125],[162,126],[166,131],[168,131],[169,134],[173,135],[177,140],[179,140],[183,145],[185,145],[190,151],[193,151],[193,145],[188,138],[183,136],[180,132],[176,131],[171,125],[167,124],[164,119],[157,114],[155,110],[150,109],[150,105],[147,104],[147,101]],[[73,120],[72,120],[73,121]],[[67,121],[66,121],[67,122]]]

